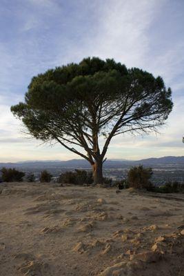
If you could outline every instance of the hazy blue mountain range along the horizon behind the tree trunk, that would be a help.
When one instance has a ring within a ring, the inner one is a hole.
[[[148,158],[137,161],[130,161],[125,159],[109,159],[105,161],[104,168],[122,168],[137,166],[142,164],[144,166],[165,166],[165,165],[184,165],[184,156],[175,157],[167,156],[160,158]],[[90,164],[85,159],[72,159],[68,161],[22,161],[16,163],[0,163],[0,168],[90,168]]]

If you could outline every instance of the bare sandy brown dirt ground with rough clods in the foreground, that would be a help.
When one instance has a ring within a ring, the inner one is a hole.
[[[184,195],[0,184],[1,276],[183,276]]]

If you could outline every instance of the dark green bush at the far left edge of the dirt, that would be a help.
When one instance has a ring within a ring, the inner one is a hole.
[[[15,168],[1,168],[1,173],[2,173],[1,175],[2,181],[5,181],[5,182],[23,181],[23,177],[25,175],[24,172],[15,170]]]

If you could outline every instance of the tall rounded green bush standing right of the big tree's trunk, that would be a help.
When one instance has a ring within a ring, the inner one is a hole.
[[[146,188],[150,190],[152,188],[150,181],[152,174],[152,168],[143,168],[143,166],[133,167],[127,174],[128,185],[133,188]]]

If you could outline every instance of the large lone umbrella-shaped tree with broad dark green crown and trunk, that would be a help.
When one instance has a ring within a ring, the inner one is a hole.
[[[156,131],[172,110],[171,89],[149,72],[93,57],[33,77],[25,103],[11,110],[32,137],[88,160],[97,184],[112,138]]]

